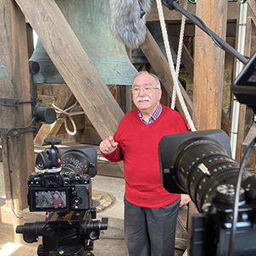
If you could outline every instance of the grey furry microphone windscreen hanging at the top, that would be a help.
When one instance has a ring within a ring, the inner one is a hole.
[[[146,38],[151,0],[109,0],[110,28],[126,47],[137,48]]]

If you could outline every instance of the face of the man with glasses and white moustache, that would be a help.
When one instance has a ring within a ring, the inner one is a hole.
[[[158,87],[157,82],[155,81],[152,75],[142,74],[138,75],[133,81],[133,87],[139,86],[139,92],[132,95],[133,102],[136,105],[136,108],[139,109],[142,113],[148,112],[148,114],[153,114],[153,111],[159,105],[160,98],[162,96],[161,89],[155,89]],[[152,92],[144,92],[147,90],[142,90],[147,86],[152,86]]]

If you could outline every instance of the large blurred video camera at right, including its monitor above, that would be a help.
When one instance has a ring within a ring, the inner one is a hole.
[[[231,90],[256,114],[256,53]],[[256,138],[249,147],[255,142]],[[243,170],[250,149],[240,166],[231,159],[229,137],[221,130],[173,134],[159,142],[164,188],[189,194],[199,211],[192,216],[190,256],[256,255],[256,180]],[[240,176],[241,186],[237,186]]]

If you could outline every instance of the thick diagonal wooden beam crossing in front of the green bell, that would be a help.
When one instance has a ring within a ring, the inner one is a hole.
[[[81,47],[58,5],[52,0],[16,2],[98,134],[102,138],[113,135],[124,113]]]

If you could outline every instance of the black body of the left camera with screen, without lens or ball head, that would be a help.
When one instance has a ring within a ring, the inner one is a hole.
[[[89,175],[70,178],[61,171],[34,172],[28,179],[28,204],[31,212],[90,209],[91,194]]]

